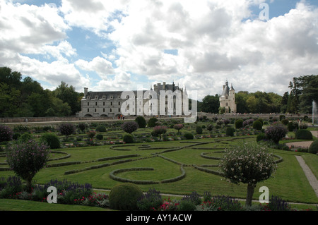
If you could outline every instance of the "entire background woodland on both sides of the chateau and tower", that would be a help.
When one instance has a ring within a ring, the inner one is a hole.
[[[304,75],[290,81],[290,92],[240,91],[235,93],[237,113],[311,114],[312,100],[318,102],[318,75]],[[81,111],[82,92],[64,81],[53,91],[45,90],[30,77],[0,67],[0,117],[74,116]],[[198,111],[218,114],[219,95],[207,95],[198,102]],[[191,106],[191,99],[190,99]]]

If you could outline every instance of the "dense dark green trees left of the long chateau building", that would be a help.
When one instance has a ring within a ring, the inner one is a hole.
[[[29,76],[0,68],[0,117],[71,116],[81,110],[82,97],[63,81],[51,91]]]

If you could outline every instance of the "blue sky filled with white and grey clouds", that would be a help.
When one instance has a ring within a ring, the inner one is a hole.
[[[54,90],[283,95],[318,74],[318,1],[0,0],[0,66]]]

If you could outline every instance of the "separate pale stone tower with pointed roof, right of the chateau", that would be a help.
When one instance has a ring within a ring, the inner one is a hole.
[[[220,107],[225,108],[225,113],[236,113],[235,90],[233,86],[228,87],[228,81],[223,85],[223,92],[220,95]]]

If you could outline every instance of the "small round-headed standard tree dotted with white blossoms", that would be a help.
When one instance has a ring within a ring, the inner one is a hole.
[[[228,181],[235,184],[247,183],[247,206],[252,205],[257,183],[270,178],[276,170],[273,155],[255,142],[240,142],[225,150],[219,166]]]

